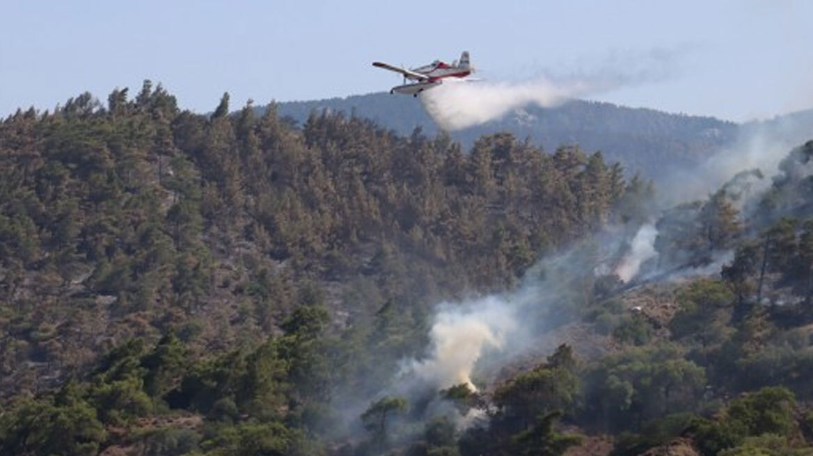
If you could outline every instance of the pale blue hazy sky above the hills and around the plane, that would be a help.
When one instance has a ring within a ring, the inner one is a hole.
[[[0,2],[0,116],[162,83],[181,107],[309,100],[399,84],[472,53],[489,80],[615,75],[595,98],[732,120],[813,107],[813,1]]]

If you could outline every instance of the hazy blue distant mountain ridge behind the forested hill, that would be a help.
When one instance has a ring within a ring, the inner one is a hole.
[[[318,101],[293,101],[277,105],[278,113],[298,123],[311,112],[343,111],[370,118],[376,123],[409,134],[420,127],[424,133],[439,131],[420,101],[389,93],[371,93]],[[737,123],[713,117],[667,114],[633,109],[611,103],[574,100],[556,108],[528,105],[503,118],[451,134],[466,148],[484,134],[509,131],[548,151],[560,145],[579,144],[588,151],[601,150],[610,161],[621,161],[632,171],[657,177],[664,163],[689,165],[709,153],[732,144]]]

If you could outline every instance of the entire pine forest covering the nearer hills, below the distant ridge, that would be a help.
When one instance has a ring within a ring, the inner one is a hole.
[[[150,81],[20,110],[0,454],[813,454],[811,158],[659,209],[506,133],[193,114]],[[484,302],[518,317],[472,372],[412,378]]]

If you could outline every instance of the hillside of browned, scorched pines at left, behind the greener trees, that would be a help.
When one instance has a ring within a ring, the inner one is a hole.
[[[133,337],[254,349],[311,308],[380,344],[367,368],[389,376],[429,303],[510,284],[646,191],[600,154],[508,135],[467,153],[341,114],[228,113],[228,95],[207,117],[146,83],[2,123],[5,396],[84,378]]]

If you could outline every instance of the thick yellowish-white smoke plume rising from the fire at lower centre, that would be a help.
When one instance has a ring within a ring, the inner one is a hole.
[[[473,380],[478,368],[497,371],[511,359],[538,351],[539,336],[580,299],[578,289],[593,271],[611,271],[630,239],[607,228],[584,242],[574,243],[540,260],[525,273],[521,285],[500,295],[488,295],[437,307],[430,329],[430,348],[421,359],[402,360],[395,389],[399,394],[449,388]]]

